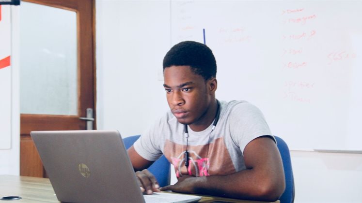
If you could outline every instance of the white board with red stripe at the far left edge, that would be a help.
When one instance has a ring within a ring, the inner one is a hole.
[[[11,148],[11,52],[10,6],[1,5],[0,16],[0,149]]]

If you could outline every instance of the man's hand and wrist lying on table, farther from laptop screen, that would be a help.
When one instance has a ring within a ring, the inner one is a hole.
[[[162,191],[171,190],[173,192],[180,193],[197,193],[195,185],[199,177],[183,175],[178,178],[178,181],[174,185],[162,187]]]

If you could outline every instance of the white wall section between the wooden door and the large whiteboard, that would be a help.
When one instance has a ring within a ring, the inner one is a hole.
[[[162,59],[170,33],[159,30],[170,22],[158,11],[168,9],[167,1],[96,1],[97,129],[140,134],[167,109]]]

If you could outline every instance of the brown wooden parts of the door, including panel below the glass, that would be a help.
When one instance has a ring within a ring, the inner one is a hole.
[[[84,4],[85,0],[23,0],[31,3],[42,4],[46,6],[61,8],[65,10],[77,12],[77,81],[78,81],[78,109],[76,116],[64,115],[34,115],[34,114],[20,114],[20,174],[32,176],[44,176],[45,172],[43,166],[39,168],[39,155],[34,152],[25,152],[23,148],[35,149],[30,137],[31,131],[54,131],[54,130],[79,130],[86,129],[86,121],[79,122],[79,117],[86,117],[86,108],[93,108],[94,120],[96,116],[96,69],[95,69],[95,1]],[[78,12],[87,11],[87,12]],[[91,11],[91,12],[89,12]],[[79,22],[87,22],[81,24]],[[92,25],[91,27],[87,25]],[[89,36],[91,35],[91,36]],[[80,38],[79,36],[88,36],[87,38]],[[89,42],[91,38],[92,42]],[[90,51],[91,50],[91,51]],[[81,56],[79,53],[87,53],[88,58]],[[92,67],[92,72],[80,74],[80,69],[84,67]],[[82,85],[80,85],[82,84]],[[92,91],[86,90],[86,84],[93,84]],[[86,98],[93,98],[87,100]],[[96,129],[96,122],[94,122],[94,129]],[[24,143],[22,143],[24,142]],[[25,146],[27,145],[27,146]],[[25,147],[24,147],[25,146]],[[31,151],[31,150],[30,150]],[[32,161],[29,161],[32,160]],[[25,161],[27,164],[24,164]],[[32,163],[36,166],[32,166]],[[40,161],[41,163],[41,161]],[[21,167],[21,165],[26,165]],[[29,170],[30,167],[37,167],[37,172],[24,173],[24,170]]]

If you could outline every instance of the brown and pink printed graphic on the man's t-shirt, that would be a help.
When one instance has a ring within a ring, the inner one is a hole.
[[[227,175],[236,172],[224,139],[218,138],[208,145],[189,145],[189,167],[185,166],[186,145],[166,140],[165,156],[173,164],[176,177],[182,175]],[[167,149],[167,150],[166,150]]]

